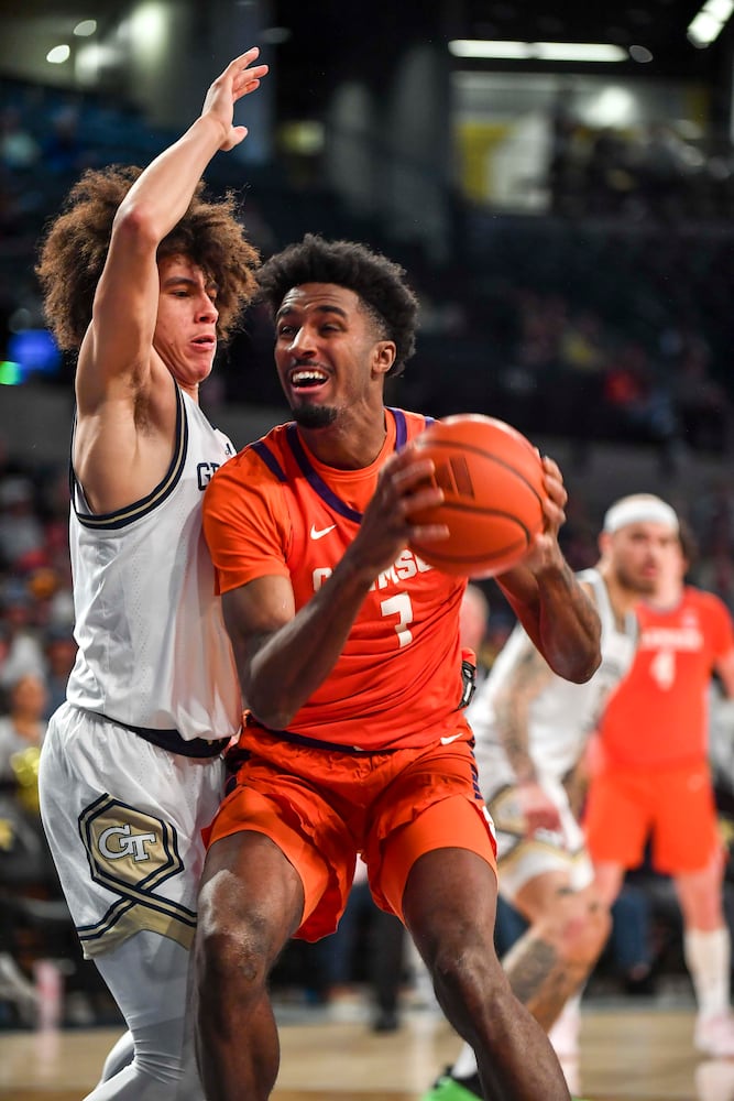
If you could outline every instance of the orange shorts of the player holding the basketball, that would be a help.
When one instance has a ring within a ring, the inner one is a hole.
[[[248,759],[206,840],[242,830],[270,837],[304,885],[297,937],[333,933],[347,904],[358,852],[375,902],[403,919],[415,861],[442,848],[470,849],[495,871],[492,819],[482,799],[471,734],[465,740],[383,753],[295,745],[252,728]]]

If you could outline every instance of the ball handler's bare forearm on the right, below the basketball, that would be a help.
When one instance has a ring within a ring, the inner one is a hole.
[[[583,684],[601,662],[601,623],[566,562],[527,578],[505,575],[503,588],[523,626],[558,676]]]

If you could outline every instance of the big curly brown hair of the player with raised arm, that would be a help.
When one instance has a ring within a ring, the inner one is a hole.
[[[36,275],[46,319],[61,348],[78,349],[91,320],[112,222],[122,199],[143,170],[110,165],[88,168],[69,192],[62,212],[41,243]],[[188,210],[161,241],[156,259],[184,255],[217,285],[217,335],[227,340],[256,291],[260,257],[237,217],[229,192],[208,201],[199,181]]]

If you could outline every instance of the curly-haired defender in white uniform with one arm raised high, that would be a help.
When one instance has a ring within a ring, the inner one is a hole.
[[[48,837],[85,955],[128,1033],[89,1101],[202,1101],[186,1029],[189,947],[241,702],[201,500],[232,454],[198,404],[256,250],[201,173],[245,137],[234,105],[266,67],[235,58],[200,117],[142,173],[85,173],[39,276],[78,351],[70,548],[78,655],[41,759]]]

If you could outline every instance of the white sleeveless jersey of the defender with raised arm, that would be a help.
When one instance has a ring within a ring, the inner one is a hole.
[[[234,449],[178,386],[176,442],[158,486],[92,514],[72,478],[76,707],[186,740],[240,728],[234,661],[201,532],[201,500]]]

